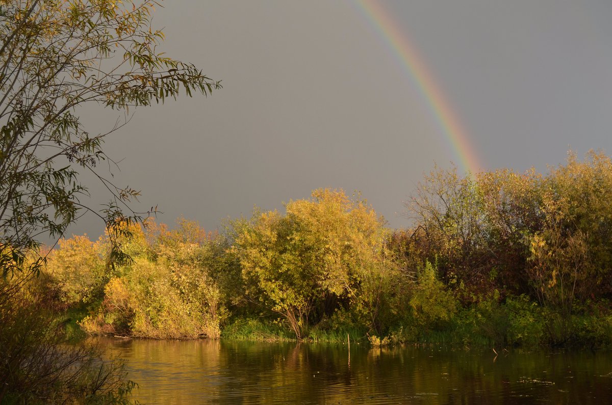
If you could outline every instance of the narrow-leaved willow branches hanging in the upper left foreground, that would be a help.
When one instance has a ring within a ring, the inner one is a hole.
[[[105,209],[95,211],[107,226],[139,218],[129,209],[138,191],[97,171],[108,159],[103,141],[109,132],[88,132],[78,117],[81,106],[95,103],[126,117],[132,107],[182,91],[207,95],[220,87],[195,65],[157,50],[164,35],[151,26],[155,6],[151,0],[0,0],[4,275],[20,267],[42,237],[61,237],[89,210],[81,201],[88,195],[83,172],[94,173],[110,191]]]

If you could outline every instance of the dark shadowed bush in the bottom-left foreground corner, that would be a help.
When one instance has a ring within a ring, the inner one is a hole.
[[[14,283],[0,284],[0,403],[130,403],[135,384],[122,363],[69,344],[49,297]]]

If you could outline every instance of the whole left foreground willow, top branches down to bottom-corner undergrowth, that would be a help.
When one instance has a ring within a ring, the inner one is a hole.
[[[129,121],[131,107],[176,98],[182,90],[207,95],[221,87],[194,65],[159,52],[164,36],[151,27],[155,6],[154,0],[0,0],[0,351],[6,359],[0,363],[0,402],[46,402],[53,390],[58,401],[73,402],[63,388],[74,385],[72,371],[86,382],[103,374],[91,366],[75,368],[89,360],[106,365],[91,351],[83,360],[81,349],[66,349],[53,320],[38,321],[42,304],[24,299],[24,285],[45,262],[41,240],[61,238],[88,210],[105,221],[111,241],[125,236],[125,223],[141,219],[130,209],[139,192],[98,171],[100,162],[110,160],[105,136]],[[107,133],[89,133],[78,113],[91,103],[122,111],[124,120]],[[81,201],[88,196],[80,176],[86,171],[110,193],[100,212]],[[113,246],[110,262],[125,260]],[[23,336],[19,325],[28,325]],[[76,357],[67,354],[71,350]],[[58,360],[72,358],[76,363]],[[50,375],[46,365],[53,379],[44,378]],[[105,384],[76,388],[95,395]],[[116,391],[121,398],[125,392]]]

